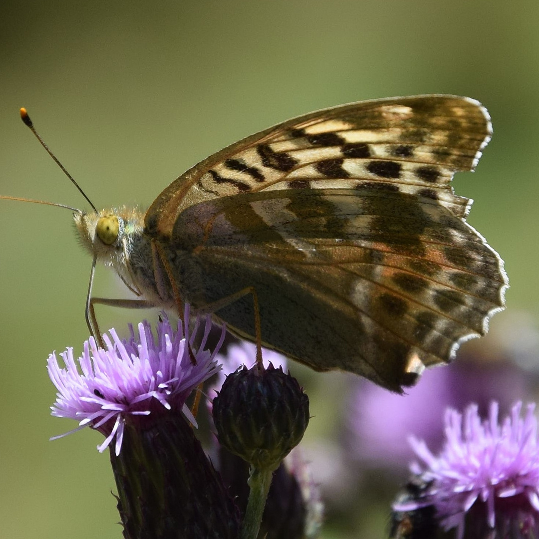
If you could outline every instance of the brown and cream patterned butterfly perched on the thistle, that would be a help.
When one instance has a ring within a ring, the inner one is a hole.
[[[94,265],[112,267],[141,306],[188,302],[317,371],[402,392],[503,307],[503,262],[450,185],[491,133],[469,98],[350,103],[218,151],[145,214],[74,220]],[[90,295],[90,325],[94,303],[130,303]]]

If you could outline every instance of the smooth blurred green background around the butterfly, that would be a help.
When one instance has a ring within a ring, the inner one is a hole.
[[[4,0],[0,194],[85,206],[20,122],[21,106],[96,206],[147,206],[190,165],[292,116],[469,95],[488,107],[494,138],[455,189],[475,199],[469,222],[506,260],[512,288],[499,318],[525,311],[537,325],[538,14],[536,0]],[[101,436],[47,441],[74,424],[49,416],[46,357],[87,337],[91,260],[72,228],[68,211],[0,202],[2,538],[121,536]],[[96,287],[121,290],[102,268]],[[100,311],[103,329],[128,319]],[[320,418],[309,439],[333,424],[324,409],[337,407],[327,399],[342,378],[300,374]],[[355,537],[331,528],[323,537]],[[364,537],[384,535],[368,528]]]

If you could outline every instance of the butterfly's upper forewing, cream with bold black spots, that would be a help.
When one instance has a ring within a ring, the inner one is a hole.
[[[454,172],[473,170],[490,139],[479,102],[453,95],[360,101],[320,110],[251,135],[172,182],[146,214],[150,233],[170,236],[198,202],[280,189],[359,188],[432,198],[465,217]]]

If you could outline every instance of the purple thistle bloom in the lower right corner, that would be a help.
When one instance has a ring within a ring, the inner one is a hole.
[[[478,406],[464,414],[448,409],[446,441],[433,455],[424,441],[411,438],[411,445],[423,460],[412,472],[429,484],[424,495],[397,503],[397,511],[426,506],[436,508],[437,518],[457,536],[539,536],[539,440],[534,404],[521,417],[522,403],[516,403],[500,425],[498,404],[490,405],[488,419],[481,421]],[[463,418],[464,416],[464,418]],[[465,529],[465,517],[466,529]]]

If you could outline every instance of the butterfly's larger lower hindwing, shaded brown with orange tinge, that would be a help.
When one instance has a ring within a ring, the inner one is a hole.
[[[375,182],[198,203],[170,240],[195,307],[254,287],[264,345],[399,392],[485,333],[507,286],[501,259],[464,219]],[[254,339],[251,296],[216,317]]]

